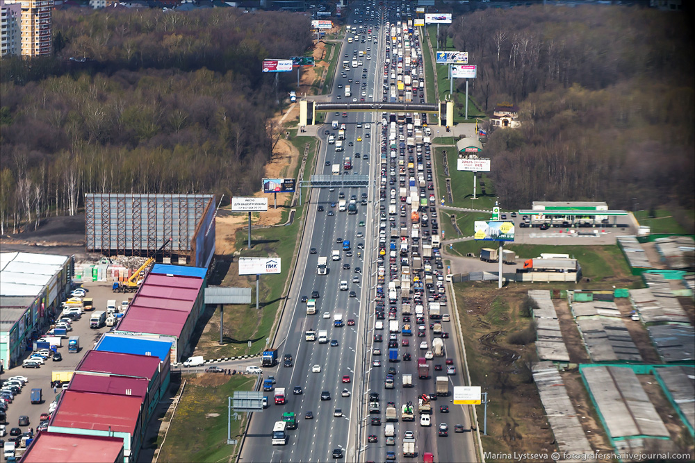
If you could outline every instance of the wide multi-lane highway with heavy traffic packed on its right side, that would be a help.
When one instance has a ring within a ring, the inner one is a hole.
[[[404,101],[404,92],[396,93],[395,99],[392,99],[394,95],[390,93],[391,84],[397,85],[396,74],[401,74],[402,79],[404,72],[402,58],[401,65],[397,65],[397,50],[403,48],[406,38],[414,48],[420,46],[420,41],[418,37],[408,35],[407,30],[401,28],[397,42],[391,44],[391,25],[402,24],[409,13],[414,13],[407,11],[409,6],[404,6],[405,9],[400,11],[396,5],[397,2],[389,2],[384,6],[377,6],[373,2],[358,2],[354,5],[355,11],[347,19],[347,24],[354,32],[346,33],[341,44],[341,58],[336,69],[332,101],[382,101],[384,97],[386,101]],[[343,61],[348,62],[349,69],[343,69]],[[418,71],[421,73],[422,59],[413,62],[412,66],[414,76]],[[346,85],[350,85],[350,96],[345,94]],[[412,101],[424,98],[420,96],[419,91],[414,93]],[[433,267],[430,273],[432,285],[429,289],[425,287],[422,294],[411,291],[411,296],[405,299],[402,299],[399,292],[397,301],[389,302],[389,282],[402,278],[403,267],[414,268],[413,257],[423,256],[423,243],[430,243],[429,237],[417,240],[410,238],[413,205],[407,204],[400,196],[396,196],[395,201],[391,199],[391,189],[399,190],[400,194],[402,176],[409,178],[418,172],[423,178],[427,176],[429,183],[432,175],[429,146],[423,146],[422,143],[417,150],[413,146],[412,152],[399,148],[399,152],[394,153],[393,157],[390,150],[382,155],[382,144],[389,148],[391,146],[389,131],[393,127],[393,124],[390,124],[392,119],[397,121],[395,130],[398,133],[395,143],[399,145],[399,139],[407,138],[408,128],[402,120],[403,117],[404,115],[398,123],[399,118],[396,114],[329,113],[326,118],[327,125],[320,128],[322,149],[316,174],[330,175],[334,165],[339,165],[340,178],[368,174],[370,187],[322,188],[311,193],[306,231],[295,269],[293,288],[290,291],[291,301],[286,307],[274,346],[279,350],[279,366],[263,371],[264,377],[275,376],[276,388],[286,389],[286,403],[275,405],[274,393],[265,393],[270,399],[270,405],[262,413],[252,416],[240,458],[243,462],[322,462],[334,460],[336,449],[341,449],[343,458],[348,461],[383,461],[391,456],[402,460],[402,437],[406,431],[414,433],[418,461],[423,460],[425,453],[433,453],[434,461],[437,462],[457,462],[461,461],[461,457],[464,457],[464,460],[474,457],[471,453],[472,433],[454,432],[456,424],[461,424],[466,431],[471,425],[463,407],[452,404],[451,393],[447,397],[432,400],[431,426],[420,426],[421,415],[417,410],[418,396],[435,393],[436,376],[448,378],[450,391],[453,385],[463,385],[453,318],[452,321],[443,322],[443,330],[451,334],[443,339],[445,356],[427,360],[427,364],[430,365],[430,375],[427,379],[418,378],[416,370],[418,357],[424,357],[425,351],[432,350],[434,339],[430,327],[434,320],[427,316],[428,299],[434,301],[436,295],[440,303],[444,302],[442,313],[448,314],[450,311],[450,303],[445,303],[448,294],[445,290],[439,290],[439,287],[445,287],[443,269],[436,268],[437,264],[441,267],[441,259],[432,256],[431,260],[426,260]],[[383,119],[386,119],[386,124],[382,124]],[[345,124],[343,151],[336,151],[336,145],[328,142],[329,134],[334,135],[336,139],[338,135],[338,130],[332,128],[332,121],[338,121],[338,128]],[[368,160],[364,155],[368,155]],[[344,169],[346,157],[351,158],[352,169]],[[410,171],[408,162],[413,162]],[[416,163],[420,166],[415,167]],[[410,194],[408,180],[405,186]],[[430,216],[426,225],[425,222],[418,223],[420,233],[426,230],[428,235],[435,234],[436,229],[432,224],[436,221],[436,210],[434,201],[430,200],[430,194],[433,192],[425,187],[420,188],[419,182],[414,192],[417,196],[414,201],[416,208],[420,196],[424,196],[427,205],[423,206],[420,214],[426,213]],[[351,197],[357,203],[357,214],[339,211],[340,200],[345,199],[349,203]],[[398,214],[389,214],[390,205],[398,209]],[[401,208],[403,212],[400,212]],[[399,253],[398,258],[393,259],[390,258],[390,242],[395,241],[395,246],[399,246],[400,249],[400,237],[395,239],[395,235],[400,235],[402,224],[407,228],[408,253],[403,256]],[[350,240],[349,251],[343,250],[344,240]],[[337,251],[339,260],[332,260],[334,251]],[[325,275],[320,275],[317,271],[320,257],[328,260],[329,269]],[[404,265],[405,261],[402,258],[406,258],[409,265]],[[378,278],[379,267],[385,269],[383,284]],[[415,269],[413,272],[415,273]],[[425,275],[422,271],[420,278],[424,283]],[[341,290],[343,281],[347,282],[347,289]],[[444,294],[439,294],[440,291],[444,291]],[[313,292],[318,292],[318,297],[316,294],[312,296]],[[383,298],[379,295],[382,292]],[[306,313],[307,304],[302,301],[302,296],[316,299],[316,314]],[[402,314],[404,302],[411,303],[415,308],[418,301],[425,311],[424,319],[420,320],[422,323],[417,323],[415,313],[411,315],[410,320]],[[379,318],[384,317],[383,320],[377,319],[377,312],[382,312]],[[343,326],[335,326],[336,314],[343,316]],[[388,362],[390,319],[398,321],[399,326],[399,332],[393,333],[398,348],[398,362]],[[383,328],[375,328],[377,321],[384,323]],[[400,332],[407,322],[414,332],[410,337],[402,336]],[[423,328],[419,328],[420,326]],[[306,332],[309,330],[316,332],[316,341],[306,340]],[[329,342],[318,342],[320,330],[327,330]],[[423,330],[422,337],[418,336],[418,330]],[[375,335],[381,335],[382,341],[375,342]],[[407,339],[409,346],[403,345],[404,339]],[[420,350],[418,346],[423,341],[427,342],[428,348]],[[375,348],[380,349],[379,355],[375,355]],[[411,360],[403,360],[404,353],[409,353]],[[293,358],[292,367],[283,366],[283,357],[286,354]],[[452,359],[453,366],[457,369],[454,375],[446,374],[447,357]],[[380,366],[374,366],[375,360],[380,360]],[[436,364],[441,364],[441,371],[434,371]],[[390,367],[395,369],[395,387],[384,389],[384,380]],[[412,374],[414,387],[402,387],[403,373]],[[350,382],[343,382],[345,376],[350,378]],[[295,387],[302,389],[301,394],[293,394]],[[347,389],[348,394],[343,394],[344,389]],[[322,392],[328,392],[330,399],[321,400]],[[379,414],[369,412],[368,398],[374,393],[379,394]],[[384,431],[386,404],[389,401],[395,403],[398,421],[393,422],[393,441],[389,439],[387,442]],[[415,405],[415,421],[401,421],[401,407],[407,402]],[[448,407],[448,413],[441,412],[441,405]],[[336,413],[336,410],[340,412]],[[297,429],[288,431],[286,445],[272,446],[273,425],[281,419],[283,412],[295,412],[299,423]],[[305,418],[307,412],[311,412],[311,419]],[[379,424],[376,421],[373,424],[372,419],[375,417],[380,418]],[[448,424],[447,437],[438,435],[441,423]],[[375,436],[376,441],[374,437],[370,438],[370,435]],[[393,452],[393,455],[389,455],[389,452]]]

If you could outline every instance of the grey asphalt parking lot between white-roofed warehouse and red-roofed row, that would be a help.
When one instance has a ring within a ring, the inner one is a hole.
[[[111,291],[111,283],[85,283],[83,285],[85,289],[88,289],[87,297],[94,300],[95,310],[106,310],[106,301],[108,299],[115,299],[116,303],[120,305],[121,301],[127,300],[132,294],[115,294]],[[28,382],[22,391],[13,398],[13,402],[8,404],[7,410],[7,432],[8,435],[2,437],[3,441],[8,441],[9,432],[11,428],[18,427],[19,416],[26,415],[29,417],[28,426],[22,426],[22,432],[26,432],[28,428],[33,428],[35,431],[40,423],[40,416],[42,413],[47,412],[49,405],[60,390],[54,392],[54,388],[51,387],[51,374],[53,371],[74,371],[75,367],[82,360],[83,355],[87,353],[95,345],[95,342],[102,333],[107,332],[109,327],[102,327],[98,330],[92,330],[89,327],[90,314],[92,312],[84,312],[79,320],[72,323],[72,331],[67,333],[68,337],[79,336],[80,337],[80,351],[79,353],[68,353],[67,352],[67,338],[63,339],[63,344],[58,348],[58,352],[63,356],[63,360],[60,362],[54,362],[52,357],[45,360],[43,364],[38,369],[33,368],[22,368],[22,363],[19,362],[18,367],[12,369],[6,369],[2,376],[0,377],[0,382],[10,378],[11,376],[25,376],[28,378]],[[26,351],[24,358],[31,355],[30,351]],[[43,403],[40,405],[31,404],[30,396],[31,389],[40,387],[42,389]]]

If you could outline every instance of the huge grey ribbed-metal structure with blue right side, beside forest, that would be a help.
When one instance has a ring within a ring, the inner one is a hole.
[[[208,267],[215,253],[215,196],[85,194],[87,251],[150,257],[167,240],[163,262]]]

